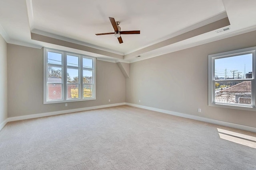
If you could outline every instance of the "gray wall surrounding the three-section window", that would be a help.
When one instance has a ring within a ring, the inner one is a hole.
[[[125,78],[116,63],[96,61],[96,100],[65,107],[43,104],[43,49],[8,44],[7,55],[8,117],[125,102]]]

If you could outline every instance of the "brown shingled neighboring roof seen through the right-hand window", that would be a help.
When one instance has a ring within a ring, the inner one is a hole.
[[[220,93],[223,92],[252,92],[252,84],[250,81],[244,81],[220,91]]]

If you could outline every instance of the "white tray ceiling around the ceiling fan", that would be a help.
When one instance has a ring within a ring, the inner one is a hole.
[[[90,51],[79,52],[129,63],[254,31],[255,8],[256,0],[246,3],[241,0],[1,0],[0,34],[8,43],[67,50],[32,40],[30,34],[46,35],[116,53],[124,56],[124,60]],[[226,16],[230,21],[229,31],[219,34],[211,31],[178,43],[141,50]],[[140,35],[122,35],[122,44],[114,35],[96,36],[95,33],[114,32],[108,17],[120,21],[122,31],[140,30]],[[134,58],[132,54],[142,57]]]

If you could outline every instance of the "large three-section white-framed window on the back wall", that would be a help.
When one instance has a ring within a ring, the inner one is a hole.
[[[95,58],[44,48],[44,104],[95,100]]]

